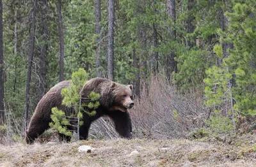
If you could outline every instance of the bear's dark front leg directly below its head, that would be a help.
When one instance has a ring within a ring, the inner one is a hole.
[[[108,116],[114,121],[115,129],[124,138],[132,138],[132,123],[128,112],[111,111]]]

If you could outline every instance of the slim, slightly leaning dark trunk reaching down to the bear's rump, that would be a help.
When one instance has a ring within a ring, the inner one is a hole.
[[[31,41],[30,41],[30,50],[28,57],[28,76],[27,76],[27,87],[26,87],[26,109],[25,109],[25,120],[24,126],[27,129],[28,125],[28,113],[29,113],[29,90],[30,90],[30,80],[31,80],[31,68],[32,61],[34,57],[34,47],[35,47],[35,30],[36,30],[36,3],[37,1],[33,1],[33,13],[32,13],[32,25],[31,25]]]

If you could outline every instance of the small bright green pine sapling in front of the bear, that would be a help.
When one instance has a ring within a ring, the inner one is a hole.
[[[79,68],[78,71],[72,73],[71,85],[68,88],[61,90],[61,96],[63,96],[62,104],[68,108],[73,108],[74,113],[70,115],[65,115],[65,112],[58,110],[58,108],[52,108],[50,127],[55,127],[62,134],[71,136],[71,131],[68,131],[67,126],[73,126],[70,124],[70,121],[76,121],[77,138],[79,139],[79,127],[83,125],[83,112],[89,116],[96,114],[95,109],[99,107],[99,97],[100,95],[91,92],[88,96],[89,102],[82,103],[82,97],[80,94],[81,89],[88,79],[86,71],[82,68]],[[87,111],[86,108],[89,108],[92,111]]]

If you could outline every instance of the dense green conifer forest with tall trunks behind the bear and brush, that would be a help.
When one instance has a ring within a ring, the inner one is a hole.
[[[137,98],[152,76],[163,76],[233,125],[237,114],[256,114],[255,1],[0,3],[2,123],[12,112],[27,124],[45,92],[79,68],[133,83]]]

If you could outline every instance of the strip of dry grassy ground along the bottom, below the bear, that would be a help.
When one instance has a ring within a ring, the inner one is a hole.
[[[95,150],[78,152],[80,145]],[[134,150],[139,153],[131,154]],[[256,135],[232,143],[146,139],[16,143],[0,145],[0,166],[256,166]]]

